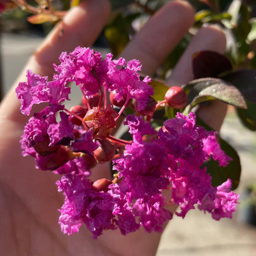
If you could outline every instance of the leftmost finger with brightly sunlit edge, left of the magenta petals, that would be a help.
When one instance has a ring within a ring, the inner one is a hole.
[[[26,70],[30,69],[41,76],[52,76],[52,63],[58,62],[61,52],[70,52],[79,44],[90,46],[97,38],[110,13],[110,4],[107,0],[84,0],[78,7],[71,9],[62,22],[42,42],[18,76],[14,87],[9,91],[0,108],[0,116],[23,124],[25,116],[20,114],[20,102],[15,94],[18,82],[26,81]]]

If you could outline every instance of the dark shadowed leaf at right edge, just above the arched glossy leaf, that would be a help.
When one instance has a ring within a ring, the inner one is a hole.
[[[246,100],[256,103],[256,70],[238,70],[221,76],[236,86]]]

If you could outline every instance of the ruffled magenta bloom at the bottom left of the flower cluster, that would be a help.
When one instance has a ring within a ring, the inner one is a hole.
[[[85,223],[97,238],[104,229],[115,229],[114,202],[110,193],[92,190],[92,182],[84,176],[65,175],[57,182],[63,191],[65,203],[60,210],[60,226],[63,233],[76,233]]]

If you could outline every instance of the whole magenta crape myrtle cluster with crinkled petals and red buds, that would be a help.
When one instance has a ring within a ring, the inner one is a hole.
[[[202,167],[210,158],[220,166],[231,160],[215,132],[197,126],[194,113],[178,113],[156,131],[150,120],[159,104],[151,97],[150,78],[140,79],[138,60],[112,57],[103,59],[94,50],[77,47],[60,55],[52,81],[28,70],[27,82],[16,89],[23,114],[48,103],[33,113],[21,143],[23,155],[33,156],[37,168],[62,175],[57,186],[65,195],[59,219],[63,233],[78,232],[82,223],[93,238],[117,228],[124,235],[140,226],[161,232],[173,216],[168,206],[174,204],[180,206],[175,214],[183,218],[195,206],[215,220],[231,218],[238,202],[231,181],[214,187]],[[63,104],[69,100],[69,82],[82,95],[82,104],[70,110]],[[127,106],[134,109],[124,121],[130,141],[111,134]],[[113,180],[90,180],[93,167],[108,161],[116,171]],[[169,198],[164,190],[172,190]]]

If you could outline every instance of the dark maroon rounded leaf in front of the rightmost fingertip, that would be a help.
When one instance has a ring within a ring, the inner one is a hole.
[[[192,58],[194,79],[217,77],[225,71],[232,70],[230,60],[223,54],[212,50],[196,52]]]

